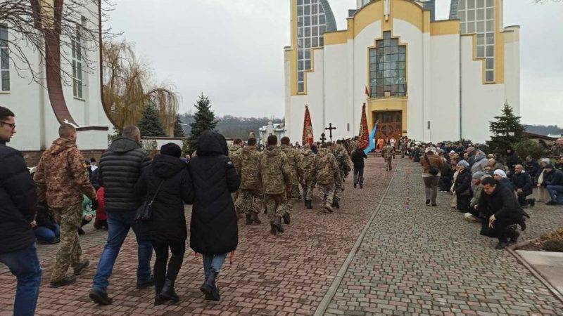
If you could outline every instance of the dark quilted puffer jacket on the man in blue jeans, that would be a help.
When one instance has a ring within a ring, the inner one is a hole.
[[[113,140],[100,159],[99,185],[105,190],[106,212],[135,211],[141,200],[134,186],[144,167],[151,164],[148,152],[131,138]]]

